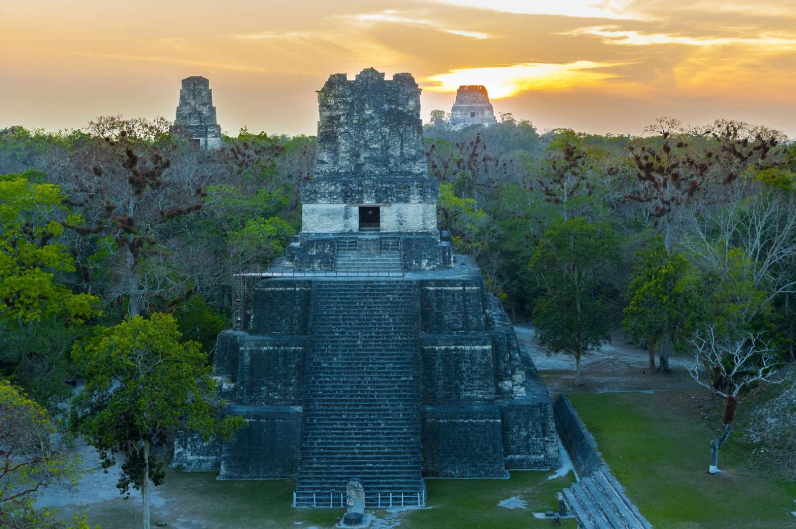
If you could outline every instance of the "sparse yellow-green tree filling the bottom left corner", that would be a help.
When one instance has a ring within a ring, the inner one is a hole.
[[[47,410],[20,387],[0,379],[0,527],[88,529],[84,519],[59,522],[57,511],[36,508],[42,489],[75,484],[77,457],[58,434]]]

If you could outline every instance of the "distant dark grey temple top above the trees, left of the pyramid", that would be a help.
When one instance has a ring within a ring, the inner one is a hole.
[[[190,76],[182,80],[174,130],[188,134],[201,149],[220,148],[221,127],[216,121],[210,81],[205,77]]]

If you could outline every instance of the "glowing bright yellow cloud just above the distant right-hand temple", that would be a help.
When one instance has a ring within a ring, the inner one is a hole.
[[[566,90],[568,88],[603,84],[619,75],[600,72],[620,63],[577,60],[568,64],[521,63],[511,66],[461,68],[438,73],[423,79],[430,91],[456,91],[462,84],[485,84],[490,98],[500,99],[529,90]]]

